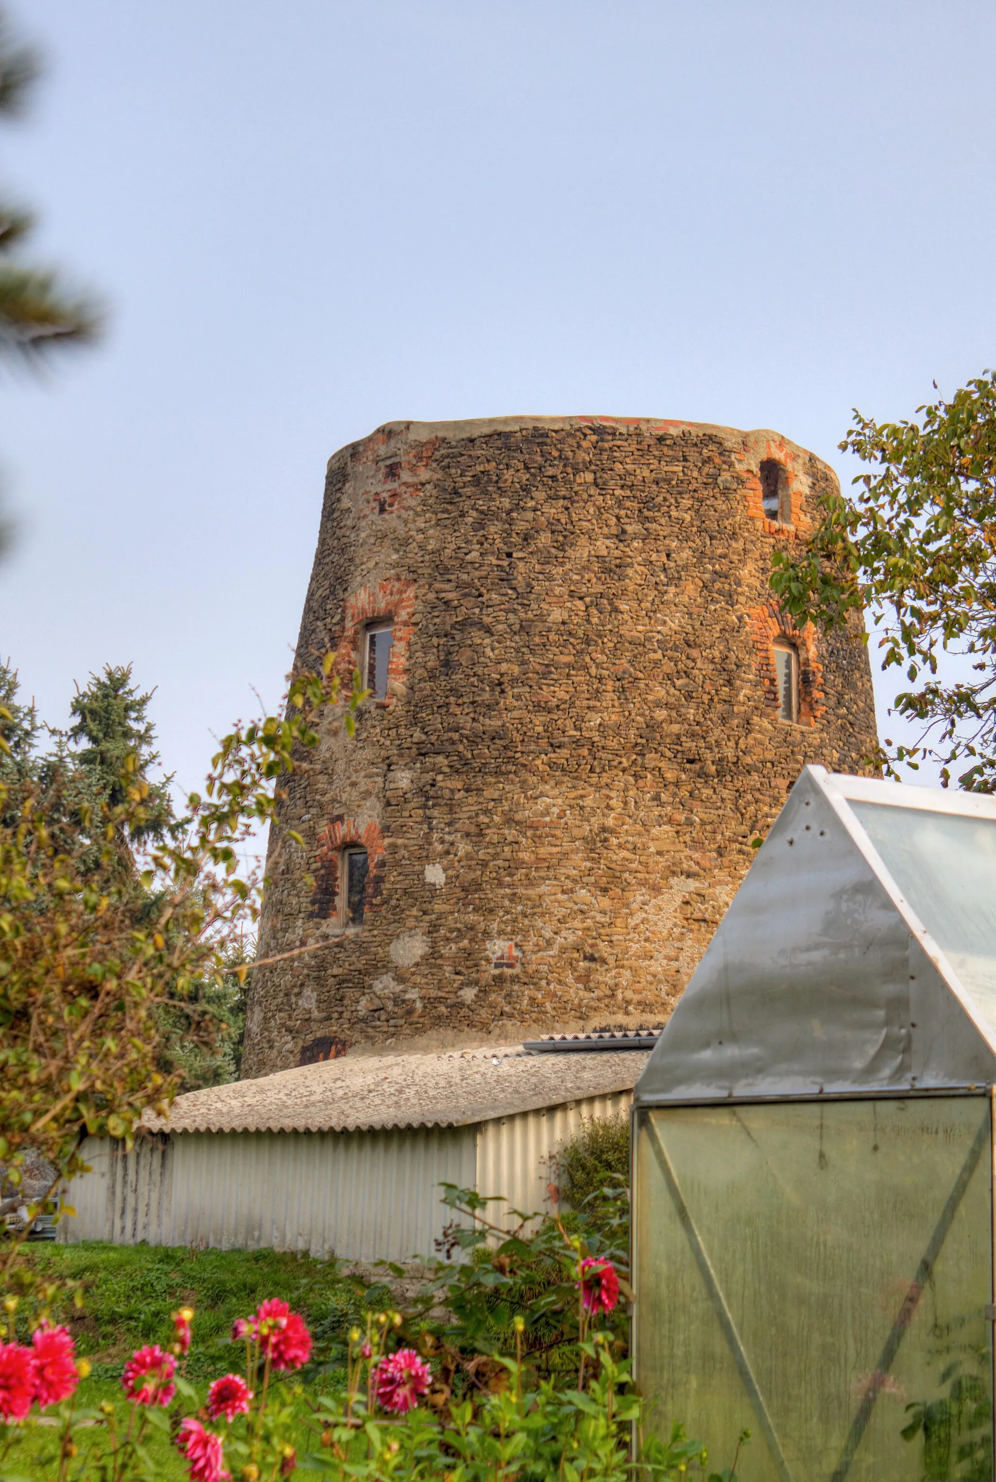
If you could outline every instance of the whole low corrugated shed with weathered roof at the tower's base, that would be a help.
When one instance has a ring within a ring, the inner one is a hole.
[[[585,1119],[627,1114],[646,1058],[371,1057],[190,1092],[130,1152],[84,1144],[61,1239],[431,1257],[451,1218],[440,1183],[547,1209],[551,1154]]]

